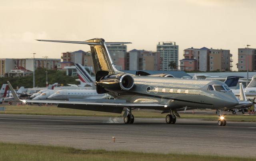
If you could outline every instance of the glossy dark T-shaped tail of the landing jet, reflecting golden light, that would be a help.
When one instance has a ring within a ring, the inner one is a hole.
[[[114,62],[110,57],[108,48],[106,45],[117,45],[126,44],[130,42],[111,42],[107,43],[104,39],[90,39],[86,41],[58,41],[58,40],[38,40],[38,41],[50,41],[50,42],[60,42],[60,43],[80,43],[87,44],[91,47],[92,60],[94,64],[95,73],[98,71],[108,71],[109,74],[120,73],[114,66]]]

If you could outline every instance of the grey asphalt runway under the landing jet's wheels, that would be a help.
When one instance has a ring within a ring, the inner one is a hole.
[[[116,142],[112,142],[112,137]],[[256,123],[177,119],[0,114],[0,141],[82,149],[256,157]]]

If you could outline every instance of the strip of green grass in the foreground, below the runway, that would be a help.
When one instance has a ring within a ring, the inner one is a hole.
[[[157,154],[131,151],[82,150],[16,143],[0,143],[1,161],[255,161],[255,158]]]

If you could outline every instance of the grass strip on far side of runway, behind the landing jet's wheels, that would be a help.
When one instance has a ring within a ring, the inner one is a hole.
[[[37,106],[37,105],[2,105],[6,107],[5,112],[0,114],[31,114],[31,115],[53,115],[53,116],[101,116],[101,117],[122,117],[122,114],[114,114],[108,112],[95,112],[88,110],[74,110],[68,108],[57,108],[53,106]],[[136,118],[165,118],[166,114],[161,114],[161,111],[154,110],[133,110]],[[179,112],[181,118],[195,118],[203,120],[218,120],[217,115],[213,111],[212,114],[191,114]],[[225,116],[227,121],[239,122],[256,122],[256,115],[230,115]]]

